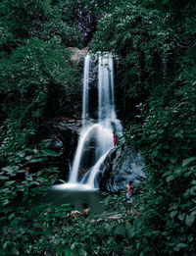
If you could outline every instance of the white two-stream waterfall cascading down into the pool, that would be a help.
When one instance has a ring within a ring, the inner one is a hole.
[[[96,176],[109,151],[114,147],[113,132],[122,135],[122,125],[115,110],[114,63],[111,54],[98,56],[98,116],[89,125],[89,83],[92,58],[85,56],[83,69],[82,128],[73,158],[69,183],[96,188]],[[85,174],[81,173],[84,170]],[[82,177],[80,177],[82,176]],[[97,187],[98,188],[98,187]]]

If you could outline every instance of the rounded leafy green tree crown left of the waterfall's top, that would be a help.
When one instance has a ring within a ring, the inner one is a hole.
[[[22,118],[26,120],[29,114],[32,118],[43,116],[44,107],[50,100],[48,94],[58,89],[69,102],[77,92],[77,70],[70,65],[69,58],[69,51],[63,49],[61,39],[54,37],[48,42],[28,40],[10,59],[2,59],[1,93],[6,95],[4,111],[11,111],[12,106],[16,108],[16,102],[20,100],[17,104],[20,114],[27,116]]]

